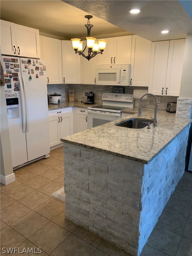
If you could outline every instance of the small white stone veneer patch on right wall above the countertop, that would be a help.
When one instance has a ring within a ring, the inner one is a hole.
[[[178,98],[176,117],[179,118],[192,118],[192,99]]]

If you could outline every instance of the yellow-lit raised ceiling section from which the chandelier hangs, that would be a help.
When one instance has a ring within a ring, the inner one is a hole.
[[[58,39],[85,39],[88,13],[60,0],[1,0],[0,17],[19,25],[39,29],[41,35]],[[132,35],[100,18],[91,19],[91,36],[97,38]],[[100,36],[99,36],[100,35]]]

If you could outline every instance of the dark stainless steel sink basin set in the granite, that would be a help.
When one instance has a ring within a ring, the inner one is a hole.
[[[132,119],[126,120],[122,123],[117,123],[115,125],[121,126],[121,127],[132,128],[132,129],[142,129],[142,128],[148,126],[148,123],[152,124],[153,121],[141,119],[141,118],[138,118],[138,119],[132,118]]]

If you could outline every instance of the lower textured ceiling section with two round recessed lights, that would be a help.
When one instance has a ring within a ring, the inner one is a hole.
[[[150,41],[185,38],[187,33],[192,33],[191,18],[177,0],[62,1]],[[130,14],[128,10],[132,8],[142,12]],[[162,30],[170,33],[163,35]]]

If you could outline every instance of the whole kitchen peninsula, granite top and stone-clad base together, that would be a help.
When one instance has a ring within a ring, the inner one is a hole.
[[[138,118],[137,111],[61,139],[66,219],[133,256],[140,255],[183,175],[192,122],[159,110],[157,127],[115,125]],[[141,118],[153,113],[142,110]]]

